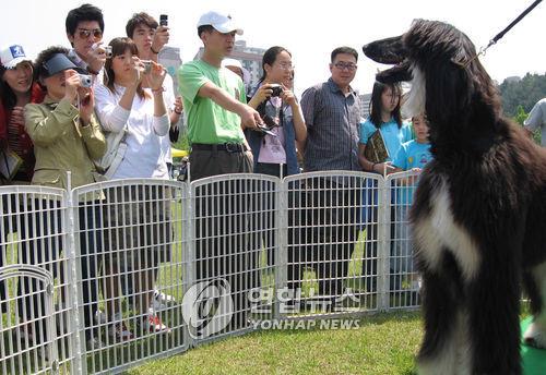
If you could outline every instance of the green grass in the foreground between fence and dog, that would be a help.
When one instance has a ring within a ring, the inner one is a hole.
[[[152,374],[412,374],[417,313],[366,317],[358,329],[269,330],[206,344],[130,370]]]

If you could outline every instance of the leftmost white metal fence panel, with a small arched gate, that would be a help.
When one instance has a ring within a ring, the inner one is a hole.
[[[52,188],[0,188],[2,374],[73,368],[66,196]]]

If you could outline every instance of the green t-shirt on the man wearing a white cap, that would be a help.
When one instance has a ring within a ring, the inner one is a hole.
[[[188,119],[188,138],[192,143],[242,143],[245,134],[238,114],[222,108],[212,99],[198,95],[212,82],[234,98],[247,102],[242,80],[226,68],[216,68],[202,60],[185,63],[178,71],[178,87]]]

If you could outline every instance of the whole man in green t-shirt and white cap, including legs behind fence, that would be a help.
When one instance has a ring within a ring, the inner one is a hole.
[[[236,27],[228,15],[209,12],[198,22],[203,41],[201,60],[183,64],[178,72],[179,89],[188,119],[191,145],[190,176],[198,180],[217,174],[252,172],[252,154],[244,128],[262,123],[258,112],[246,105],[241,78],[222,60],[230,55]],[[215,180],[195,190],[195,282],[229,290],[229,306],[222,305],[190,322],[190,335],[206,338],[224,329],[235,331],[249,326],[248,292],[257,282],[259,244],[251,228],[251,188],[248,181]],[[227,285],[226,285],[227,282]],[[204,288],[204,287],[203,287]],[[200,310],[195,301],[195,309]],[[232,304],[233,302],[233,304]],[[199,313],[198,313],[199,314]]]

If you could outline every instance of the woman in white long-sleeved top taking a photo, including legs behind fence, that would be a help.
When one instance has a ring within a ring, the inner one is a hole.
[[[122,142],[127,150],[114,173],[110,171],[112,179],[168,180],[161,146],[162,136],[170,126],[163,89],[166,71],[153,61],[140,60],[130,38],[115,38],[109,45],[112,58],[105,65],[105,85],[96,87],[95,102],[105,132],[115,136],[126,131]],[[143,77],[150,88],[142,88]],[[140,313],[136,320],[141,332],[169,331],[155,312],[149,312],[158,263],[167,249],[167,231],[158,228],[169,220],[170,207],[163,199],[166,194],[132,184],[109,191],[107,198],[110,206],[106,215],[109,231],[105,231],[105,241],[110,242],[105,246],[109,251],[105,259],[108,332],[119,341],[133,337],[121,319],[120,281],[127,283],[126,291],[133,290],[128,297]]]

